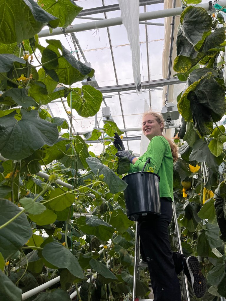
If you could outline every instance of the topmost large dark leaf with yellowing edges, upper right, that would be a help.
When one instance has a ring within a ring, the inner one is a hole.
[[[181,30],[187,40],[193,45],[202,40],[212,26],[212,17],[202,7],[188,6],[180,16]]]

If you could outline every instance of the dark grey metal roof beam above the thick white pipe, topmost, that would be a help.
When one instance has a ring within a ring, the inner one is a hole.
[[[163,3],[163,2],[164,2],[164,0],[140,0],[140,6],[158,4],[158,3]],[[83,11],[81,11],[78,14],[78,17],[106,13],[108,11],[118,11],[118,10],[120,10],[118,4],[94,7],[94,8],[89,8],[89,9],[83,9]]]

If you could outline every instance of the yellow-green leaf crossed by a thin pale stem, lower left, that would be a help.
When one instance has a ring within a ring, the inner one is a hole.
[[[54,199],[54,200],[52,200]],[[64,193],[60,188],[56,188],[51,191],[49,195],[48,205],[55,211],[62,211],[65,208],[71,206],[75,200],[75,195],[70,193]]]

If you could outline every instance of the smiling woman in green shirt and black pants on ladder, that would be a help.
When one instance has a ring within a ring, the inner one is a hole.
[[[154,112],[145,113],[142,131],[150,140],[147,151],[137,159],[129,151],[125,151],[123,142],[115,133],[114,145],[118,149],[116,156],[127,157],[130,160],[129,173],[141,171],[150,157],[145,171],[152,167],[154,173],[160,176],[161,215],[149,221],[138,222],[140,253],[142,259],[148,263],[154,301],[181,301],[177,274],[183,269],[195,295],[201,298],[206,291],[206,279],[202,275],[198,259],[172,252],[170,247],[168,225],[173,216],[173,163],[178,155],[173,141],[162,135],[163,129],[164,119],[161,115]]]

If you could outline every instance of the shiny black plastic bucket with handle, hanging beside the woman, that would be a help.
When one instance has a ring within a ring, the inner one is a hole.
[[[160,215],[159,175],[153,172],[133,172],[122,180],[128,184],[124,192],[127,217],[131,221],[145,221]]]

